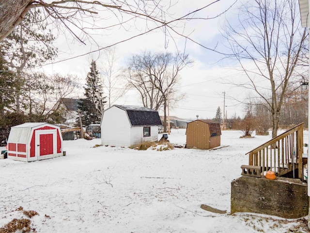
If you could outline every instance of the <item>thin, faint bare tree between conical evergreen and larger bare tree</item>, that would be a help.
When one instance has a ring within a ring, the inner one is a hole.
[[[104,60],[101,64],[103,89],[107,93],[107,102],[110,107],[115,101],[121,98],[127,89],[124,80],[121,78],[121,69],[116,67],[117,55],[115,48],[104,50]]]

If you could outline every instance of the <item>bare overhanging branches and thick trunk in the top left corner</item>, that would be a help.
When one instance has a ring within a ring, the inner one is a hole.
[[[122,28],[128,32],[137,30],[134,34],[129,33],[126,39],[114,41],[105,48],[155,30],[161,30],[166,41],[178,36],[199,44],[190,38],[190,32],[184,30],[185,24],[188,20],[204,21],[223,14],[225,11],[218,14],[206,12],[219,1],[206,1],[202,7],[180,16],[172,11],[172,8],[177,8],[180,3],[177,0],[5,0],[0,1],[0,9],[3,9],[0,11],[0,41],[22,23],[30,9],[42,8],[45,20],[49,20],[57,30],[71,33],[83,44],[86,40],[93,40],[95,43],[92,34],[109,34],[113,28]],[[227,9],[230,7],[231,5],[228,5]],[[198,16],[198,12],[203,12],[207,17]],[[143,22],[144,26],[138,28],[137,22]]]

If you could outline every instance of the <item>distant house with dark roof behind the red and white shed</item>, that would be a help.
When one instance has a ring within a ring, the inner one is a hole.
[[[59,101],[61,108],[64,109],[64,124],[74,126],[78,117],[78,102],[79,99],[62,98]]]

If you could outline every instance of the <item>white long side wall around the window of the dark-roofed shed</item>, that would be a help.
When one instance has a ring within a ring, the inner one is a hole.
[[[143,127],[136,126],[131,128],[130,133],[130,145],[139,145],[145,141],[157,141],[158,140],[158,126],[151,126],[151,136],[143,137]],[[147,126],[146,126],[147,127]]]

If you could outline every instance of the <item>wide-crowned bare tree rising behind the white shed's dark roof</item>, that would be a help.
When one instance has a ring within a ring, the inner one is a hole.
[[[133,55],[129,67],[124,73],[128,86],[138,90],[144,107],[156,111],[163,107],[164,129],[167,124],[168,97],[171,102],[181,100],[184,96],[177,94],[175,84],[179,82],[179,72],[192,61],[188,55],[171,53],[153,53],[144,51]]]

